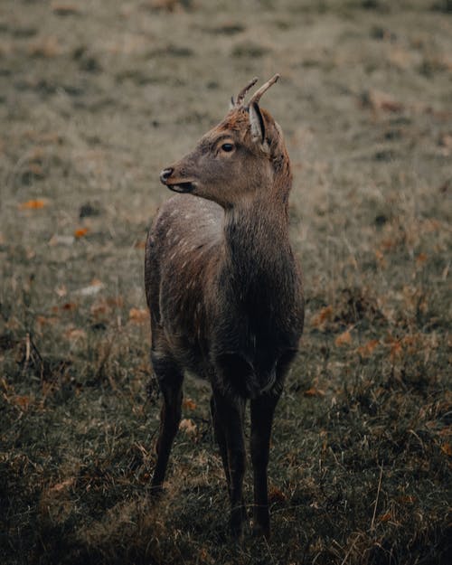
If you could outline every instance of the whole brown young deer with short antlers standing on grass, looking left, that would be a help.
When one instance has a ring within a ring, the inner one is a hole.
[[[176,193],[146,243],[151,358],[163,393],[153,490],[165,478],[181,419],[184,372],[212,384],[212,420],[231,499],[231,530],[246,516],[243,419],[250,400],[254,529],[269,535],[267,466],[273,413],[303,330],[304,302],[288,239],[292,184],[281,128],[259,108],[268,80],[192,153],[164,169]]]

